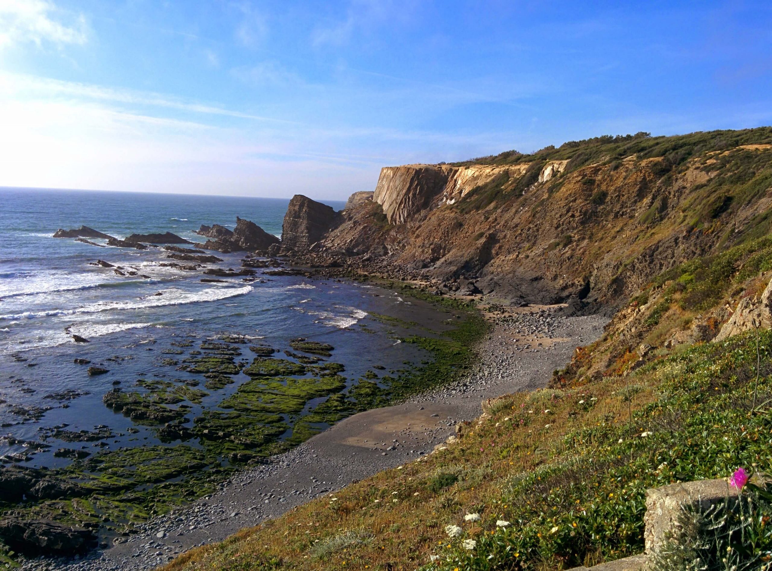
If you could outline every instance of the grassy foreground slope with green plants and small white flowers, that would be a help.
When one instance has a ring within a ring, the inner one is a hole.
[[[764,332],[760,400],[772,395],[770,344]],[[638,390],[608,377],[503,397],[444,450],[163,569],[564,569],[641,552],[646,488],[772,468],[772,416],[750,411],[755,359],[741,336],[636,371]],[[450,524],[462,536],[447,537]],[[357,530],[372,538],[340,540]],[[763,539],[769,549],[768,530]],[[337,547],[319,559],[317,546]]]

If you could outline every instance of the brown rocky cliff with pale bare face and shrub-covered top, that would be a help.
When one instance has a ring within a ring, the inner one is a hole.
[[[665,269],[764,235],[770,181],[767,127],[598,137],[532,155],[384,167],[372,201],[330,215],[307,245],[321,239],[320,263],[441,291],[598,309]]]

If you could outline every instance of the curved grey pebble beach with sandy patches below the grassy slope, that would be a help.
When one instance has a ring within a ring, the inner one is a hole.
[[[234,475],[218,492],[141,526],[141,532],[85,559],[27,560],[24,569],[151,569],[195,546],[275,518],[354,480],[430,454],[480,403],[546,385],[574,347],[601,335],[602,316],[565,316],[564,307],[523,307],[494,316],[479,362],[450,385],[401,404],[346,418],[266,465]]]

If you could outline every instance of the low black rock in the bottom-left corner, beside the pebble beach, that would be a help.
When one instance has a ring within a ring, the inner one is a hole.
[[[86,552],[97,541],[88,529],[45,519],[25,521],[15,517],[0,521],[0,539],[11,549],[27,556],[72,556]]]

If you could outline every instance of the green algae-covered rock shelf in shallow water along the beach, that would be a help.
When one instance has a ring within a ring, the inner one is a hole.
[[[59,467],[30,462],[35,454],[0,467],[0,486],[12,490],[0,498],[0,522],[8,524],[0,525],[0,539],[8,550],[56,555],[67,551],[52,547],[60,525],[76,530],[67,539],[77,542],[70,545],[73,553],[122,542],[138,523],[212,493],[233,471],[266,461],[357,411],[391,404],[465,370],[472,360],[469,344],[484,331],[473,306],[443,305],[426,292],[391,286],[400,296],[423,298],[415,303],[436,314],[435,328],[400,317],[384,323],[374,312],[350,335],[398,343],[401,354],[413,356],[404,362],[373,355],[369,367],[356,362],[349,370],[336,360],[339,353],[346,360],[345,351],[303,337],[172,337],[152,357],[152,367],[134,380],[113,381],[103,394],[101,406],[128,424],[93,431],[57,425],[40,431],[36,445],[45,450],[46,437],[66,442],[53,454]],[[123,444],[109,446],[111,438]],[[54,527],[33,525],[20,539],[14,522]]]

